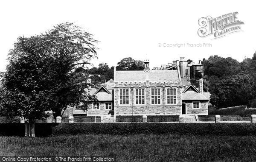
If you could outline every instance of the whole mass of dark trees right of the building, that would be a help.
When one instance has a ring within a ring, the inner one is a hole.
[[[210,103],[218,108],[246,105],[256,97],[256,54],[241,63],[220,56],[204,59],[204,78],[209,81]]]

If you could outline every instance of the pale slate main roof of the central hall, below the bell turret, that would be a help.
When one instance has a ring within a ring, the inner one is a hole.
[[[149,81],[179,81],[178,70],[151,70],[149,74],[144,71],[116,71],[115,81],[134,82],[146,81],[148,75]]]

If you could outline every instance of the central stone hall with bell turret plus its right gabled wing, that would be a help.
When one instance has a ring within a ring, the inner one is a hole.
[[[179,65],[176,70],[114,70],[115,115],[208,114],[208,101],[191,84],[183,84]]]

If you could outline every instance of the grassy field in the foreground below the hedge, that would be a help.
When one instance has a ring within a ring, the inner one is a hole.
[[[254,161],[255,136],[171,134],[0,137],[1,156],[116,156],[118,162]]]

